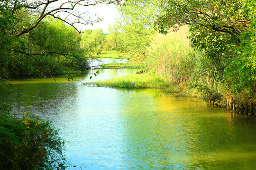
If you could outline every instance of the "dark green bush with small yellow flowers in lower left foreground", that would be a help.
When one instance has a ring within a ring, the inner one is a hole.
[[[0,113],[0,169],[64,170],[63,145],[49,121]]]

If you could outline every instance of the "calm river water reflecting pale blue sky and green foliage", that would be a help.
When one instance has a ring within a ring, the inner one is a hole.
[[[101,70],[98,79],[136,70]],[[91,81],[89,75],[75,77]],[[96,80],[95,78],[95,80]],[[12,81],[13,110],[50,119],[70,170],[255,170],[256,119],[156,89],[112,89],[65,77]],[[51,82],[52,81],[52,82]]]

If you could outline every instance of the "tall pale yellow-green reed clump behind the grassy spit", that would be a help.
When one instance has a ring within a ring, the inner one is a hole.
[[[193,50],[187,39],[188,27],[166,35],[155,34],[146,57],[148,67],[158,76],[176,84],[187,83],[192,76],[200,51]]]

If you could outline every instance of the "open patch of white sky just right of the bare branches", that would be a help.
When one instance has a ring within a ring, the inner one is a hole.
[[[97,17],[103,18],[103,20],[100,23],[93,23],[93,26],[79,26],[80,30],[102,28],[104,33],[108,33],[109,24],[113,25],[115,23],[116,17],[119,15],[118,9],[115,5],[112,4],[98,4],[90,8],[90,11],[91,15],[96,14]]]

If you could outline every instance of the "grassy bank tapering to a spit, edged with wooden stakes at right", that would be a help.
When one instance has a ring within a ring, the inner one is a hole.
[[[256,106],[253,102],[236,101],[229,95],[217,93],[209,88],[200,88],[190,84],[174,84],[161,76],[156,76],[154,71],[96,81],[94,84],[103,87],[126,89],[161,88],[165,95],[196,97],[208,101],[212,107],[227,108],[244,116],[255,117]]]

